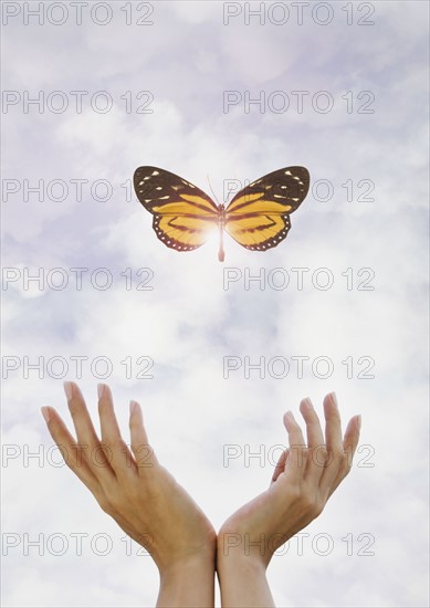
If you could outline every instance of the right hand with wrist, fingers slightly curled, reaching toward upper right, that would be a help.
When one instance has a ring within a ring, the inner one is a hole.
[[[282,453],[270,488],[231,515],[218,534],[218,573],[226,605],[260,606],[259,593],[264,606],[273,601],[264,572],[274,552],[321,514],[328,497],[350,470],[359,439],[359,417],[349,420],[343,440],[336,398],[334,394],[327,395],[324,399],[324,442],[311,400],[302,400],[300,409],[306,423],[307,447],[294,416],[286,412],[284,424],[290,449]],[[224,577],[227,568],[228,579]],[[242,573],[240,593],[237,593],[232,568]],[[248,600],[243,595],[245,587],[249,589]]]

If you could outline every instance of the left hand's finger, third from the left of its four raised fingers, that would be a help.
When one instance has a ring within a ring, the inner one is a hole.
[[[116,474],[135,473],[136,463],[126,442],[120,437],[112,391],[107,385],[103,384],[98,385],[97,390],[102,448],[105,451],[106,459]]]

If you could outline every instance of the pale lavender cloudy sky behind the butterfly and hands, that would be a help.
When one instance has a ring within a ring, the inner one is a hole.
[[[137,399],[217,530],[269,485],[283,412],[335,390],[359,447],[273,558],[276,606],[428,606],[428,3],[1,9],[3,606],[156,601],[150,557],[53,448],[64,379],[94,417],[108,382],[126,439]],[[311,188],[279,247],[226,237],[220,263],[217,239],[156,238],[145,165],[218,203],[282,167]]]

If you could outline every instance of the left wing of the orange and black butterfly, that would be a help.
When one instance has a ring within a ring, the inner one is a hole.
[[[136,196],[154,216],[153,228],[165,245],[192,251],[202,245],[219,220],[217,205],[199,188],[158,167],[139,167]]]

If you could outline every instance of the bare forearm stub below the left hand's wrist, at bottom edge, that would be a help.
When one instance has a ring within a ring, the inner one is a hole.
[[[160,572],[157,608],[213,608],[214,559],[196,558]]]

